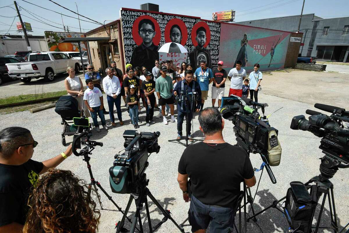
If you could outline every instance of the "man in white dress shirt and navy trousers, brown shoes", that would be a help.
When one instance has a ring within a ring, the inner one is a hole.
[[[112,126],[116,126],[115,118],[114,118],[114,104],[116,106],[116,110],[118,112],[118,119],[120,121],[120,125],[123,125],[122,116],[121,116],[121,86],[119,78],[113,75],[111,68],[106,68],[105,73],[107,76],[103,79],[103,89],[105,94],[107,94],[107,102],[109,106],[109,116]]]

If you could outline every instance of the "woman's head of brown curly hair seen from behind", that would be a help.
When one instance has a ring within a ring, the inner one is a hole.
[[[85,187],[85,181],[68,170],[49,170],[29,197],[23,232],[96,232],[101,214]]]

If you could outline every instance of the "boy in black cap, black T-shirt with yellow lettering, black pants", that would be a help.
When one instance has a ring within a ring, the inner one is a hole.
[[[153,115],[154,115],[154,106],[155,106],[155,81],[151,80],[151,73],[149,71],[144,72],[144,76],[146,78],[146,81],[142,82],[142,90],[144,90],[144,96],[147,98],[147,115],[146,115],[146,122],[147,126],[150,126],[151,124],[154,124],[153,121]]]

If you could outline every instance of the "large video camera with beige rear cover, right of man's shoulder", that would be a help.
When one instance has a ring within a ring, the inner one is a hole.
[[[264,116],[265,104],[231,96],[222,98],[221,114],[234,124],[237,145],[247,153],[261,155],[270,180],[275,184],[276,179],[270,166],[280,164],[281,145],[277,139],[277,129],[270,127],[268,118]],[[261,108],[263,116],[260,116],[257,106]]]

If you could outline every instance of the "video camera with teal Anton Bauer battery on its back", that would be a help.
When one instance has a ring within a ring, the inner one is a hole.
[[[122,136],[125,138],[125,152],[114,156],[115,161],[109,169],[110,187],[112,192],[119,194],[137,193],[149,165],[148,156],[160,150],[157,143],[160,132],[125,130]]]

